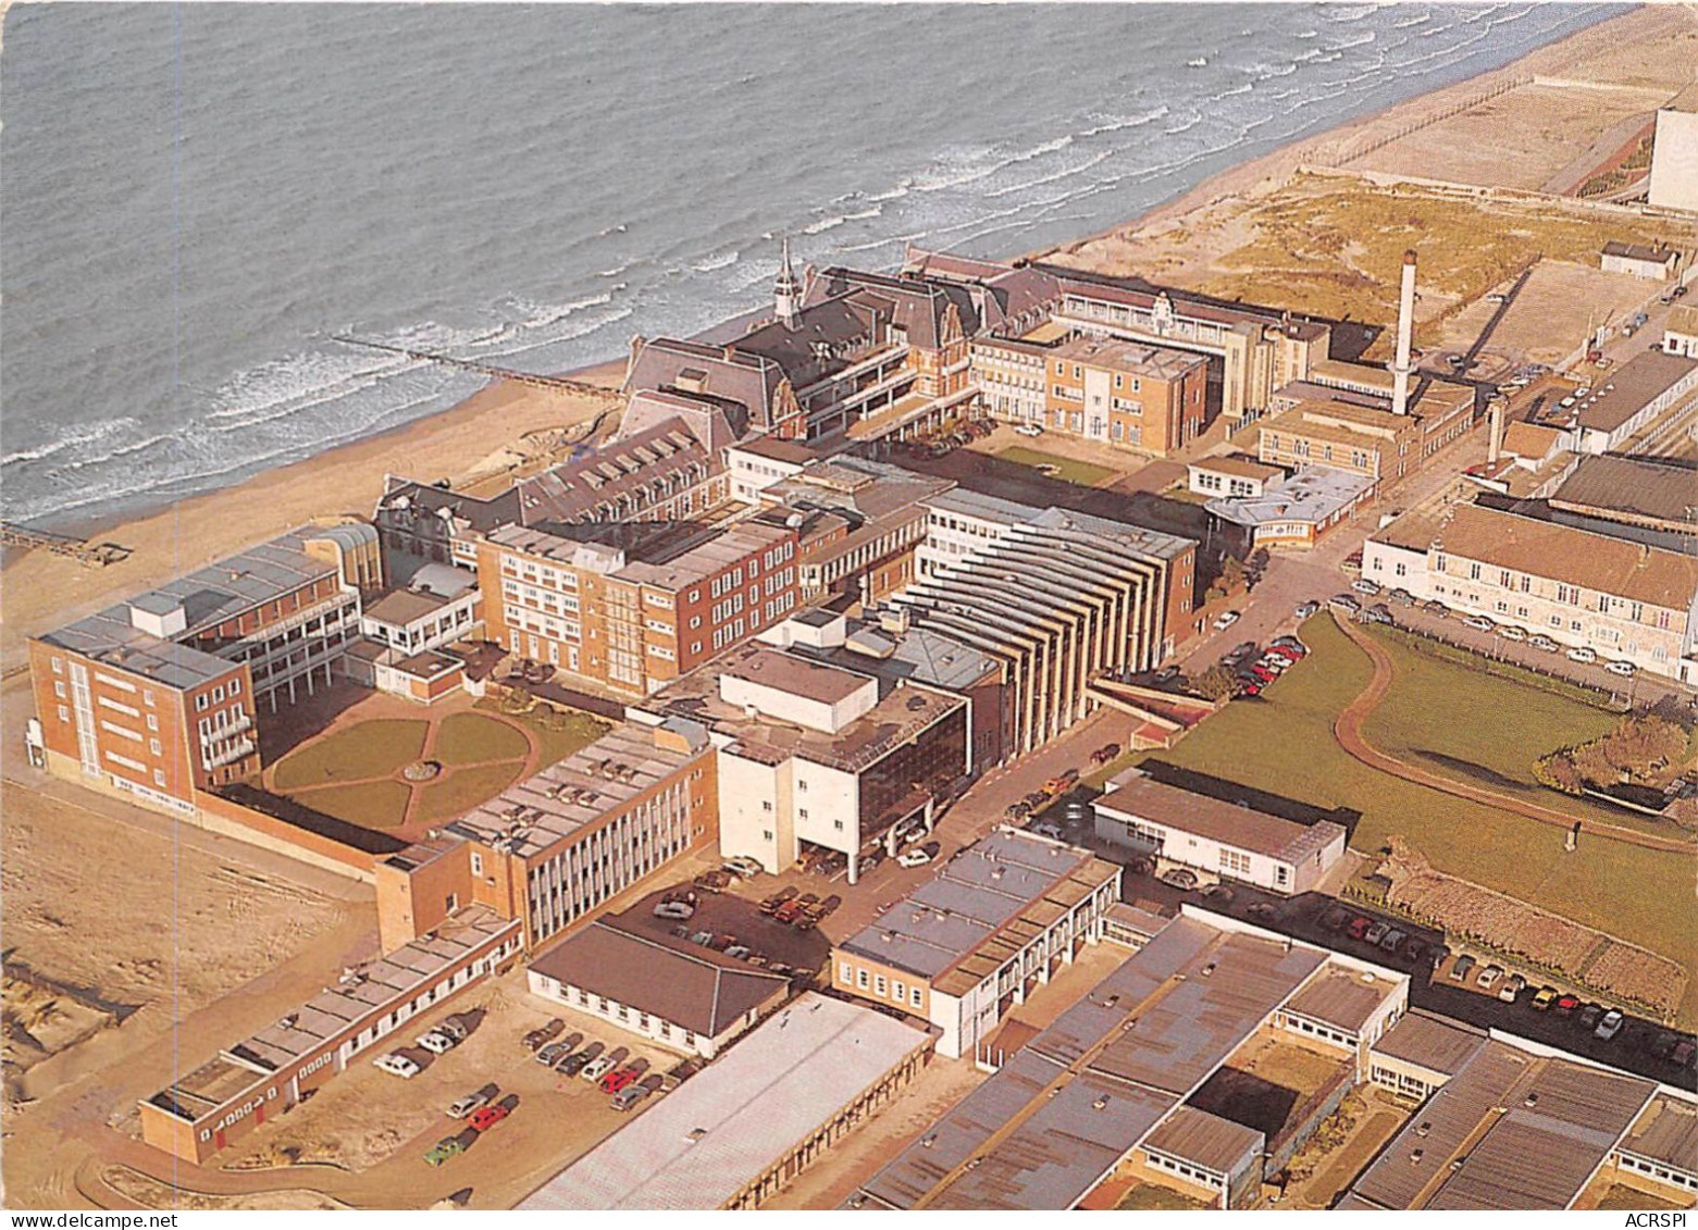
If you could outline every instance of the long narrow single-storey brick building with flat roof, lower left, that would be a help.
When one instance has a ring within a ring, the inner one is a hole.
[[[472,906],[433,933],[348,970],[297,1011],[268,1025],[141,1103],[141,1138],[202,1164],[357,1055],[518,955],[518,920]]]

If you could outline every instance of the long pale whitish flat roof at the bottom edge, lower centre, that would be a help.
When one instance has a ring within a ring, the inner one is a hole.
[[[891,1016],[810,991],[518,1208],[720,1208],[927,1045]]]

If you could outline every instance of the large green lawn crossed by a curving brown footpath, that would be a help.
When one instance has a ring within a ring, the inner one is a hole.
[[[1510,813],[1455,799],[1396,777],[1379,774],[1348,757],[1333,738],[1338,711],[1369,682],[1369,658],[1321,614],[1304,624],[1313,653],[1285,672],[1258,701],[1234,701],[1187,735],[1172,752],[1151,758],[1243,782],[1272,794],[1319,808],[1362,811],[1350,845],[1377,853],[1392,835],[1408,838],[1438,870],[1537,903],[1588,926],[1640,943],[1679,962],[1698,952],[1698,911],[1691,909],[1695,860],[1589,836],[1581,853],[1562,848],[1564,831]],[[1460,674],[1460,672],[1459,672]],[[1515,689],[1493,692],[1493,707],[1481,709],[1472,677],[1450,679],[1428,694],[1435,713],[1416,723],[1399,699],[1401,730],[1428,731],[1447,726],[1450,755],[1506,767],[1520,750],[1560,735],[1564,713],[1550,709],[1543,694]],[[1418,677],[1420,687],[1430,687]],[[1399,684],[1392,685],[1392,697]],[[1386,704],[1391,704],[1387,697]],[[1513,730],[1523,711],[1530,730]],[[1593,730],[1591,719],[1569,713]],[[1608,719],[1606,716],[1603,716]],[[1537,724],[1535,724],[1537,723]],[[1472,731],[1472,735],[1469,735]],[[1372,721],[1369,738],[1375,736]],[[1572,736],[1571,736],[1572,738]],[[1437,741],[1437,736],[1428,741]],[[1562,740],[1559,740],[1562,741]],[[1695,979],[1693,986],[1698,986]],[[1683,1016],[1698,1015],[1690,991]]]

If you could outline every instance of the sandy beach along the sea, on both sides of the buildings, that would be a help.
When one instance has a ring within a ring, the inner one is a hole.
[[[1688,41],[1691,44],[1688,46]],[[1698,17],[1684,7],[1650,5],[1581,31],[1493,73],[1445,87],[1377,115],[1287,144],[1233,166],[1185,195],[1099,236],[1037,253],[1066,263],[1110,271],[1144,271],[1178,285],[1206,278],[1223,251],[1221,227],[1194,221],[1231,215],[1234,205],[1272,197],[1311,163],[1338,163],[1350,151],[1430,119],[1457,102],[1479,97],[1499,81],[1530,75],[1574,75],[1584,66],[1593,81],[1625,81],[1623,88],[1661,88],[1667,61],[1686,73],[1698,63]],[[1613,85],[1606,85],[1600,97]],[[1583,117],[1584,119],[1584,117]],[[1510,134],[1513,136],[1513,134]],[[1226,227],[1231,234],[1231,226]],[[1160,260],[1146,258],[1155,241]],[[577,373],[613,387],[621,361]],[[385,473],[435,480],[462,478],[503,444],[526,431],[582,422],[603,409],[594,399],[571,397],[526,385],[492,383],[460,405],[375,438],[329,450],[295,465],[267,472],[239,485],[182,500],[117,526],[100,526],[98,538],[131,548],[131,556],[105,568],[82,567],[44,551],[31,551],[3,570],[5,619],[0,624],[0,668],[22,662],[29,636],[98,609],[117,597],[158,584],[183,570],[221,558],[241,546],[282,533],[311,516],[368,516]]]

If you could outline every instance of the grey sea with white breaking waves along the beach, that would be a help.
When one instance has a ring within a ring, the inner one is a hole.
[[[1588,3],[14,5],[0,512],[73,528],[905,244],[1010,256]]]

